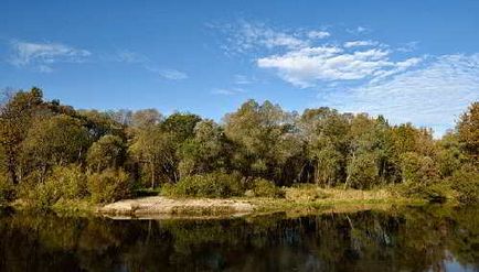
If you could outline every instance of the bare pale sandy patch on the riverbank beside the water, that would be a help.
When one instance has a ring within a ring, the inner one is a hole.
[[[217,217],[247,215],[254,211],[254,205],[236,199],[172,199],[150,196],[119,200],[100,207],[97,211],[117,218]]]

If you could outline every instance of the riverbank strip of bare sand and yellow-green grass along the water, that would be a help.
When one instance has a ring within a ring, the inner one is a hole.
[[[386,209],[397,205],[422,205],[386,189],[286,188],[285,197],[168,198],[163,196],[124,199],[96,208],[96,214],[117,219],[166,217],[224,217],[265,213],[289,216],[331,210]]]

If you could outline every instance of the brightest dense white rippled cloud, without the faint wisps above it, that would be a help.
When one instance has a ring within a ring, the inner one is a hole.
[[[392,62],[390,51],[371,48],[345,53],[338,46],[317,46],[257,59],[260,68],[277,70],[284,80],[301,87],[318,81],[374,79],[386,77],[417,64],[416,59]]]

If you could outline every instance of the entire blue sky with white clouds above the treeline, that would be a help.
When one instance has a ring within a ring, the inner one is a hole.
[[[217,121],[247,99],[454,128],[479,100],[479,1],[1,0],[0,88]]]

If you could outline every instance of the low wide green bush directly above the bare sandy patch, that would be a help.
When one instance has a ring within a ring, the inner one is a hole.
[[[214,172],[184,176],[174,185],[164,185],[161,194],[173,197],[231,197],[243,195],[244,188],[238,175]]]

